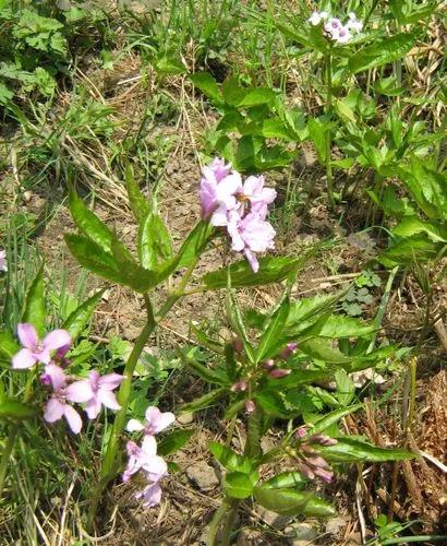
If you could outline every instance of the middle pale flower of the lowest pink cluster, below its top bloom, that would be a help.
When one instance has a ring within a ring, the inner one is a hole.
[[[123,482],[129,482],[140,470],[146,473],[150,483],[157,483],[167,475],[168,465],[157,455],[157,442],[153,436],[145,436],[141,448],[133,441],[129,441],[125,448],[129,460],[122,475]]]

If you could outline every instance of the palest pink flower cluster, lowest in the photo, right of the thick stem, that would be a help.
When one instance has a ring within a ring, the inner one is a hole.
[[[138,471],[143,471],[147,479],[146,487],[136,494],[136,498],[143,498],[143,506],[155,507],[161,500],[160,480],[168,475],[166,461],[157,455],[157,442],[155,435],[168,428],[176,420],[176,416],[170,412],[160,412],[158,407],[149,406],[145,414],[146,420],[140,423],[131,419],[128,423],[130,432],[143,432],[142,446],[134,441],[126,443],[128,465],[122,474],[122,480],[129,482],[131,476]]]

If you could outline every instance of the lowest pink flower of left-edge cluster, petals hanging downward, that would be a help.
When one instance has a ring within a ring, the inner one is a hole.
[[[74,402],[74,400],[70,394],[71,385],[67,387],[67,376],[63,369],[56,364],[49,364],[45,367],[43,378],[47,380],[49,378],[53,389],[50,400],[45,404],[44,419],[47,423],[55,423],[65,417],[72,431],[78,434],[82,428],[82,419],[80,414],[68,404],[68,402]]]

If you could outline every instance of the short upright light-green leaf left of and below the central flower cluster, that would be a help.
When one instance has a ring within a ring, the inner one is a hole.
[[[140,225],[140,263],[146,270],[155,270],[159,258],[171,260],[172,254],[172,241],[165,222],[158,214],[148,213]]]

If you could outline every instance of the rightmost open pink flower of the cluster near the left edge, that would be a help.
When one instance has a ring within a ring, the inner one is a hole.
[[[88,418],[95,419],[101,410],[101,405],[114,411],[121,408],[112,391],[119,387],[123,379],[124,376],[119,373],[107,373],[101,377],[96,370],[93,370],[88,373],[88,379],[75,381],[69,389],[72,400],[74,402],[85,402]]]

